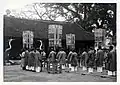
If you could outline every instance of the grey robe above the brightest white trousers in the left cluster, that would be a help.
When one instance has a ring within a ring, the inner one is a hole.
[[[35,52],[34,66],[35,67],[41,67],[41,62],[42,62],[42,56],[39,53],[39,51],[36,51]]]

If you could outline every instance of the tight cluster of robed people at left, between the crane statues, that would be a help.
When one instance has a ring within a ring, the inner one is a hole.
[[[39,49],[23,49],[21,56],[21,68],[29,71],[42,71],[42,63],[46,59],[46,53]]]

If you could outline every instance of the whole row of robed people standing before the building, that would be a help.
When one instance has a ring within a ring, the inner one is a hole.
[[[48,68],[46,63],[54,63],[57,61],[66,72],[77,71],[79,67],[87,73],[107,71],[108,75],[116,76],[116,48],[110,46],[109,49],[102,49],[101,46],[97,50],[93,47],[84,48],[82,52],[76,52],[75,49],[66,51],[59,48],[56,52],[51,48],[49,53],[40,49],[23,49],[21,56],[21,67],[23,70],[42,72],[42,68]]]

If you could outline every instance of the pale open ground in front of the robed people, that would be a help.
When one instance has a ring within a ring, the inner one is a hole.
[[[48,74],[24,71],[20,65],[4,66],[4,82],[116,82],[115,77],[101,78],[101,73],[81,75],[82,73],[81,68],[77,73]]]

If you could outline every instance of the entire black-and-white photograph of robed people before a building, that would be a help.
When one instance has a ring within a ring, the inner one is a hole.
[[[117,82],[117,3],[19,2],[3,15],[4,82]]]

